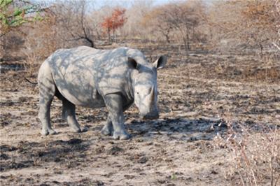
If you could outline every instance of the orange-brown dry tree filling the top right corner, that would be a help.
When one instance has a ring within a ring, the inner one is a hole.
[[[207,17],[212,43],[217,46],[226,43],[232,48],[240,48],[241,45],[250,50],[257,48],[262,54],[265,46],[277,37],[276,27],[280,18],[276,16],[276,3],[261,0],[214,3]]]

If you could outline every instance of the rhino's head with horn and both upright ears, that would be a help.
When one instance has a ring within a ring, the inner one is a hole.
[[[161,56],[153,64],[137,63],[133,58],[128,58],[132,69],[132,87],[134,103],[139,108],[139,115],[142,119],[158,119],[158,85],[157,70],[167,63],[167,57]]]

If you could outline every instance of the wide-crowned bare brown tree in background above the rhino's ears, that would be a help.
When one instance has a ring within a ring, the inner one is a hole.
[[[167,43],[170,42],[170,34],[174,34],[183,41],[185,50],[188,51],[190,41],[197,32],[195,28],[202,22],[200,14],[203,13],[202,1],[182,1],[155,8],[146,19],[165,36]]]

